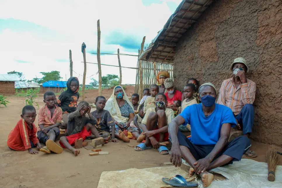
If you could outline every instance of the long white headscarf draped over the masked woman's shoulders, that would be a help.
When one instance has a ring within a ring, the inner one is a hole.
[[[116,86],[117,87],[117,86]],[[123,123],[126,123],[128,121],[128,117],[123,117],[121,116],[121,111],[119,109],[119,105],[118,103],[116,102],[116,95],[114,95],[114,91],[115,91],[115,88],[113,89],[113,94],[111,95],[111,97],[107,100],[106,102],[106,105],[105,105],[105,110],[108,110],[111,114],[111,116],[117,121],[117,122],[123,122]],[[121,86],[120,86],[121,87]],[[129,104],[129,106],[133,109],[134,111],[134,108],[130,102],[130,100],[128,99],[125,91],[123,90],[123,88],[121,87],[122,91],[123,91],[123,99],[126,100],[126,102]]]

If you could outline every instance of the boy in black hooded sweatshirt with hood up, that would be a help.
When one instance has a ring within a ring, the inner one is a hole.
[[[76,77],[70,77],[67,81],[67,90],[59,96],[56,105],[62,108],[61,129],[67,128],[68,114],[76,111],[77,101],[79,99],[79,81]]]

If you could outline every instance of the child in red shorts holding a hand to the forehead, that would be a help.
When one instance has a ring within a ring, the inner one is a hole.
[[[97,120],[92,116],[92,114],[90,114],[90,110],[91,107],[88,102],[79,102],[77,110],[70,113],[68,116],[66,136],[60,138],[60,145],[63,148],[69,149],[74,156],[77,156],[80,153],[78,149],[72,147],[75,140],[79,140],[81,138],[81,140],[84,141],[86,137],[91,135],[91,133],[96,138],[101,137],[95,126],[93,126],[97,123]],[[89,118],[85,116],[86,113]],[[110,137],[104,138],[104,141],[109,139]]]

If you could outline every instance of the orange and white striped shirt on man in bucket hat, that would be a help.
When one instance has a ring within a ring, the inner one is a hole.
[[[247,79],[236,88],[233,78],[224,80],[220,87],[217,104],[231,108],[234,115],[238,115],[246,104],[253,104],[255,100],[255,82]]]

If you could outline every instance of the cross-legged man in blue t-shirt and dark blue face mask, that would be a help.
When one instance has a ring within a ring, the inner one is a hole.
[[[191,166],[189,176],[201,176],[203,186],[213,180],[208,170],[240,161],[250,147],[247,136],[240,136],[228,142],[231,126],[236,120],[229,107],[215,103],[216,89],[212,83],[204,83],[199,88],[200,104],[186,107],[168,125],[172,142],[170,161],[175,167],[181,165],[181,158]],[[178,126],[191,125],[191,140],[186,138]]]

